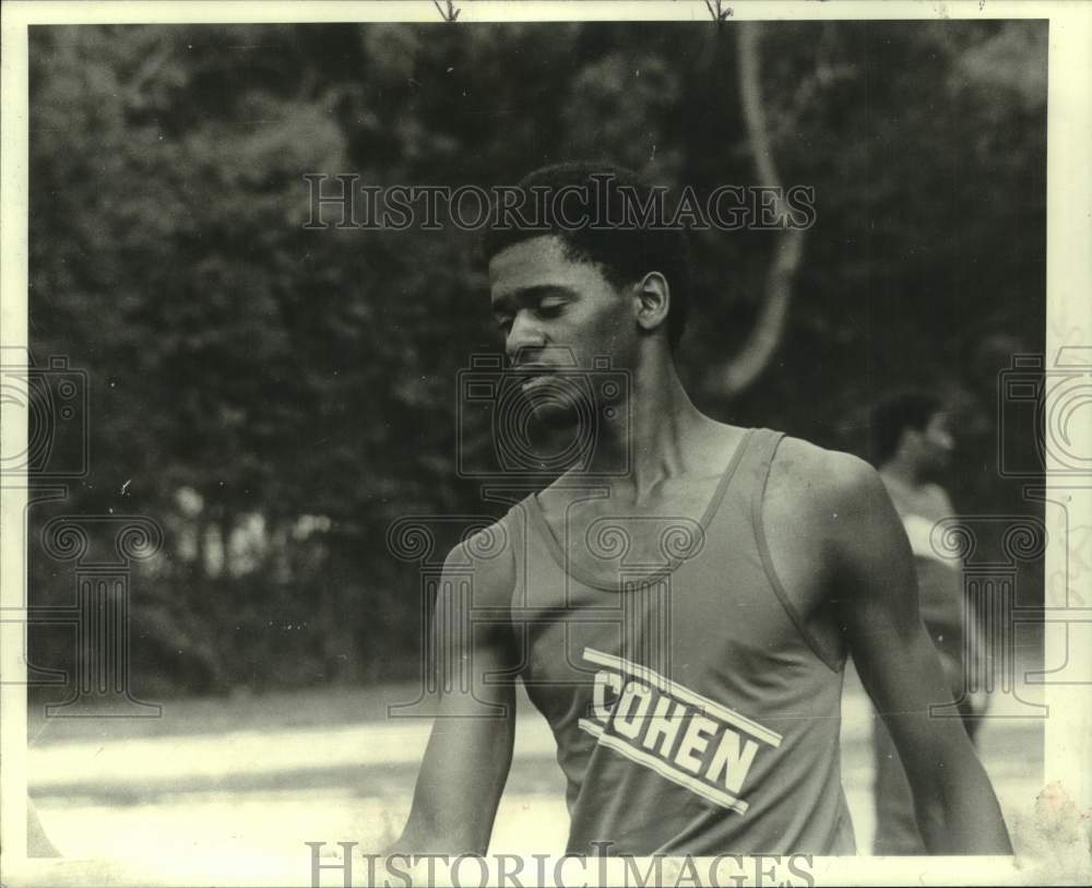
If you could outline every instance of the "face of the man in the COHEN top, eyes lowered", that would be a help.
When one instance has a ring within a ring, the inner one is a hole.
[[[615,368],[632,366],[636,296],[613,286],[597,265],[569,259],[559,238],[501,250],[489,262],[489,291],[505,352],[526,377],[522,391],[536,414],[569,400],[559,369],[586,371],[596,357],[609,357]]]

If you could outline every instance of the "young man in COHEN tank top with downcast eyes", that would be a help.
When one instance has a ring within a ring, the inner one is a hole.
[[[520,675],[557,738],[570,853],[854,853],[839,772],[852,654],[929,850],[1010,853],[966,734],[927,715],[950,695],[876,472],[693,406],[675,365],[685,234],[619,225],[625,188],[608,209],[581,203],[594,174],[650,193],[603,165],[531,174],[537,205],[565,198],[548,230],[491,230],[490,298],[543,423],[586,418],[573,363],[594,383],[608,356],[628,386],[602,387],[587,464],[449,555],[437,644],[452,690],[392,850],[485,853]]]

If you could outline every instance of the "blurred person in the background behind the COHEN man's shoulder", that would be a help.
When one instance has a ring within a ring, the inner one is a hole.
[[[937,521],[956,513],[938,483],[956,442],[940,398],[924,391],[897,392],[871,412],[873,458],[891,496],[914,555],[922,620],[940,656],[947,687],[959,701],[963,726],[974,741],[984,710],[981,697],[964,695],[964,597],[959,566],[931,545]],[[973,615],[969,615],[973,618]],[[972,641],[976,632],[966,636]],[[972,656],[975,654],[972,651]],[[876,854],[922,854],[914,805],[890,733],[875,722]]]

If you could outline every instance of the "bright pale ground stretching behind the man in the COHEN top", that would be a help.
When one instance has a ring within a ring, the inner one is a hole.
[[[32,712],[32,797],[71,856],[306,853],[306,841],[349,840],[378,850],[401,828],[429,729],[387,707],[415,697],[389,686],[177,700],[158,719]],[[559,853],[568,817],[553,737],[525,699],[520,712],[491,850]],[[862,851],[874,829],[869,719],[851,674],[843,782]],[[1019,824],[1042,789],[1042,722],[990,719],[981,749]]]

